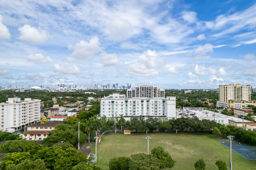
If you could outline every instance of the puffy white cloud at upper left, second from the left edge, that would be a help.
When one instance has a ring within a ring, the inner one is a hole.
[[[35,29],[30,25],[24,25],[18,29],[20,31],[20,37],[18,39],[30,42],[32,44],[42,44],[48,40],[48,36],[45,30],[38,27]]]

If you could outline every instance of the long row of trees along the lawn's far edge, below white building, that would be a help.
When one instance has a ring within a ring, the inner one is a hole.
[[[182,131],[193,131],[197,132],[198,130],[202,133],[204,130],[211,130],[214,127],[219,127],[220,124],[215,121],[210,121],[208,119],[198,119],[198,117],[180,117],[177,119],[167,119],[167,118],[153,118],[148,116],[145,117],[131,117],[130,121],[126,121],[124,128],[130,130],[142,131],[142,132],[153,132],[153,131],[165,131],[176,129],[178,132]]]

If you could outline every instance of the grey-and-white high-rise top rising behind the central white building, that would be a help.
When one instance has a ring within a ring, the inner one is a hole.
[[[133,97],[145,97],[145,98],[155,98],[155,97],[165,97],[165,90],[158,89],[156,86],[133,86],[132,89],[127,89],[126,91],[127,98]]]

